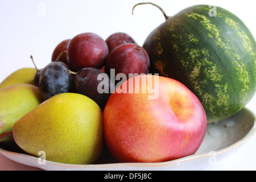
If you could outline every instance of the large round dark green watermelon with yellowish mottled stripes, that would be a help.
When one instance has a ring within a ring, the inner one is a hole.
[[[188,7],[155,28],[143,48],[150,73],[187,86],[204,106],[208,123],[237,113],[254,96],[255,39],[228,10]]]

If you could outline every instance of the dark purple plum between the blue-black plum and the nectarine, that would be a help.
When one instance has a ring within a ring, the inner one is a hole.
[[[98,79],[98,75],[100,74],[104,78]],[[100,83],[103,85],[109,85],[108,93],[98,92],[98,85]],[[111,90],[114,90],[114,84],[110,80],[109,76],[97,68],[80,69],[75,77],[75,86],[77,93],[91,98],[98,104],[98,106],[101,107],[102,111],[104,110],[106,102],[111,95]]]

